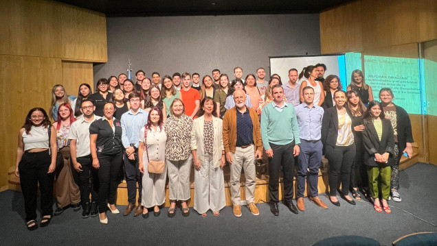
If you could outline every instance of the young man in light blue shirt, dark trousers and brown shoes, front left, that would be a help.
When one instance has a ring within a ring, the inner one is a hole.
[[[138,207],[135,210],[135,216],[142,214],[141,205],[142,176],[138,169],[138,145],[139,130],[147,123],[148,112],[139,108],[139,93],[133,92],[129,95],[131,110],[122,114],[120,123],[122,124],[122,143],[125,148],[124,152],[124,171],[126,172],[126,184],[128,191],[128,206],[123,215],[131,214],[135,208],[135,198],[137,197],[138,183]]]

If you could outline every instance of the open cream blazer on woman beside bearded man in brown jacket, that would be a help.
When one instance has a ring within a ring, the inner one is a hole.
[[[203,123],[205,122],[204,116],[200,116],[192,121],[190,148],[197,150],[197,159],[199,159],[201,165],[205,161],[205,148],[203,147]],[[212,116],[212,127],[214,127],[214,141],[212,143],[212,159],[214,160],[214,168],[220,167],[220,160],[223,147],[223,121],[217,117]]]

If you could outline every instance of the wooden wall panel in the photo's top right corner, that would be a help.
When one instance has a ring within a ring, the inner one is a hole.
[[[437,39],[437,1],[418,0],[417,42]]]

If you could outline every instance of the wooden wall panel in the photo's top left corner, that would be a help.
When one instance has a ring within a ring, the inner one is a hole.
[[[60,58],[60,3],[5,0],[0,7],[0,53]]]

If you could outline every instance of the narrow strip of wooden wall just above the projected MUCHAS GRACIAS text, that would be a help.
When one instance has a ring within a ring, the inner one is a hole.
[[[365,56],[390,56],[396,58],[418,58],[416,42],[406,45],[390,45],[366,49],[362,52]]]

